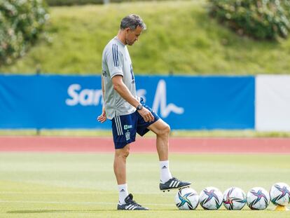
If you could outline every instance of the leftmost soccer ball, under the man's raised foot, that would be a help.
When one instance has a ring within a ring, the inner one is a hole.
[[[198,193],[191,188],[180,189],[175,196],[175,204],[179,210],[195,210],[198,200]]]

